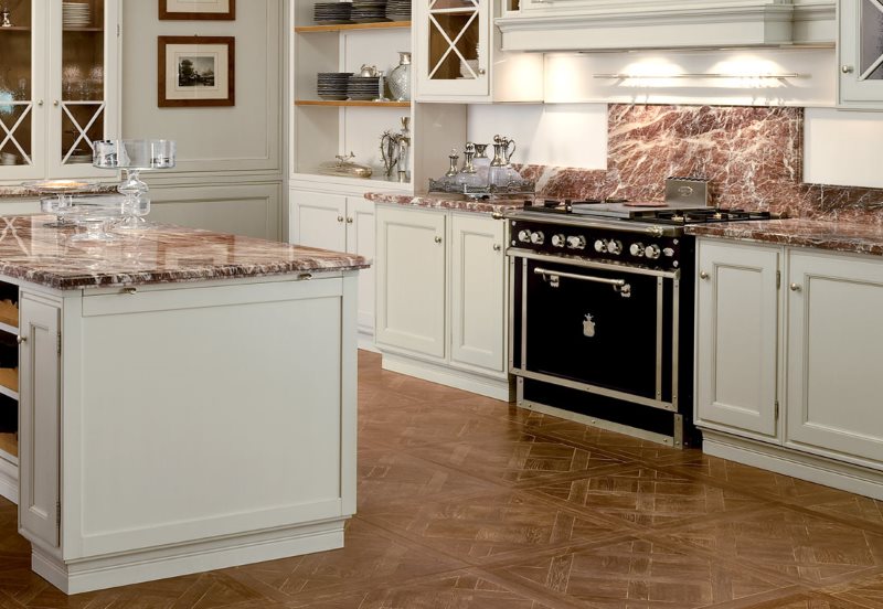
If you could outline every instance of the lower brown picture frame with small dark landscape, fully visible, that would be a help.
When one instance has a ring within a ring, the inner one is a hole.
[[[234,36],[158,36],[160,108],[236,105]]]

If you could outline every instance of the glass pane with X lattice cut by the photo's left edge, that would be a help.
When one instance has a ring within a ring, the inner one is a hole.
[[[32,164],[31,2],[0,8],[0,165]]]

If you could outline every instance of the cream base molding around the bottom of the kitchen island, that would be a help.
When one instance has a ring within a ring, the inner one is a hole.
[[[76,595],[338,549],[343,547],[343,526],[347,520],[337,519],[72,563],[64,563],[33,544],[31,568],[63,592]]]

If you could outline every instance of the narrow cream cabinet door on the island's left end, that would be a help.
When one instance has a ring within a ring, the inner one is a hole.
[[[22,292],[19,352],[19,526],[28,538],[58,546],[60,309]]]

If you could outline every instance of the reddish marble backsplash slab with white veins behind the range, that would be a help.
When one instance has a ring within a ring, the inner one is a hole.
[[[883,225],[883,190],[806,184],[802,108],[608,108],[608,168],[522,165],[540,196],[661,201],[670,175],[704,178],[715,205]]]

